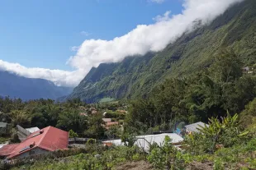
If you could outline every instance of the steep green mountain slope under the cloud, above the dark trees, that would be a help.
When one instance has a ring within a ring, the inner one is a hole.
[[[159,53],[126,57],[122,62],[93,67],[67,99],[88,103],[102,98],[135,99],[172,76],[189,76],[208,67],[222,48],[231,48],[244,65],[256,59],[256,1],[245,0],[216,18],[211,25],[183,34]]]

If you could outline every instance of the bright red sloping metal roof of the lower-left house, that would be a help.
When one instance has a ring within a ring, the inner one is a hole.
[[[32,147],[30,147],[30,145]],[[49,151],[55,151],[57,149],[67,149],[68,145],[69,145],[69,132],[62,131],[53,126],[48,126],[48,127],[45,127],[44,129],[41,129],[40,131],[35,131],[30,136],[28,136],[26,140],[18,144],[9,154],[7,159],[12,159],[17,155],[23,154],[36,147],[49,150]],[[21,151],[22,149],[25,149],[25,150]],[[1,151],[2,149],[0,149],[0,152]]]

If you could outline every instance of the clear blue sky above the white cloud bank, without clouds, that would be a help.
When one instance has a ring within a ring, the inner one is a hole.
[[[181,0],[3,0],[0,59],[25,67],[73,70],[65,62],[85,39],[110,40],[153,24],[165,11],[178,14]],[[88,34],[81,34],[82,31]]]

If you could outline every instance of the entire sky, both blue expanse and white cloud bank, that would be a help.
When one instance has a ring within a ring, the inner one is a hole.
[[[0,69],[75,86],[92,67],[160,51],[243,0],[2,0]]]

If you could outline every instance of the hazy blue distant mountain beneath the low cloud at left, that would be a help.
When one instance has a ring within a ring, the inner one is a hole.
[[[30,79],[7,71],[0,71],[0,96],[29,99],[57,99],[68,95],[72,88],[59,87],[43,79]]]

